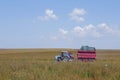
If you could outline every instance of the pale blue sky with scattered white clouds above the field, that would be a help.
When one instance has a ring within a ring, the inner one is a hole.
[[[120,49],[120,0],[0,0],[0,48]]]

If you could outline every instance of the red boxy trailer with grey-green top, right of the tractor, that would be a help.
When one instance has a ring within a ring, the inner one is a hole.
[[[82,46],[77,52],[78,60],[93,61],[96,59],[96,49],[94,47]]]

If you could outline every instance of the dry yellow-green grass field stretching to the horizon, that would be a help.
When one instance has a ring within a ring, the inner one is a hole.
[[[55,62],[61,50],[1,49],[0,80],[120,80],[120,50],[97,50],[94,62]]]

